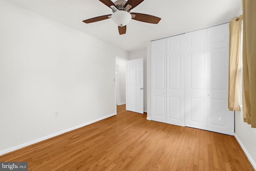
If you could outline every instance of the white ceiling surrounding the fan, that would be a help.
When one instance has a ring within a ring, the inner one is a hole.
[[[112,14],[99,0],[8,0],[128,52],[156,40],[229,22],[242,10],[242,0],[144,0],[131,12],[162,18],[158,24],[131,20],[119,35],[111,19],[85,24],[88,18]],[[112,0],[113,2],[115,0]]]

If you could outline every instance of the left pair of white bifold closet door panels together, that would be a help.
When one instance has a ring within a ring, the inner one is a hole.
[[[151,44],[152,120],[185,126],[184,35]]]

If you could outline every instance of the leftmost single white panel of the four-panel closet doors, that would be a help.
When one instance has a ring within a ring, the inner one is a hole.
[[[166,123],[166,39],[151,42],[151,119]]]

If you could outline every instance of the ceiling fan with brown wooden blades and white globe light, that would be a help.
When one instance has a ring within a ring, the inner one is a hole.
[[[112,9],[113,14],[90,18],[84,20],[83,22],[88,24],[112,18],[112,20],[118,25],[118,31],[120,35],[126,33],[126,24],[128,24],[131,19],[141,22],[158,24],[158,22],[161,20],[159,17],[130,12],[130,10],[138,6],[143,1],[144,0],[117,0],[116,2],[112,2],[111,0],[100,0],[100,2]]]

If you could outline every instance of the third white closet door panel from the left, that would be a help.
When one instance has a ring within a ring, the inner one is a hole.
[[[186,34],[185,126],[207,130],[207,29]]]

